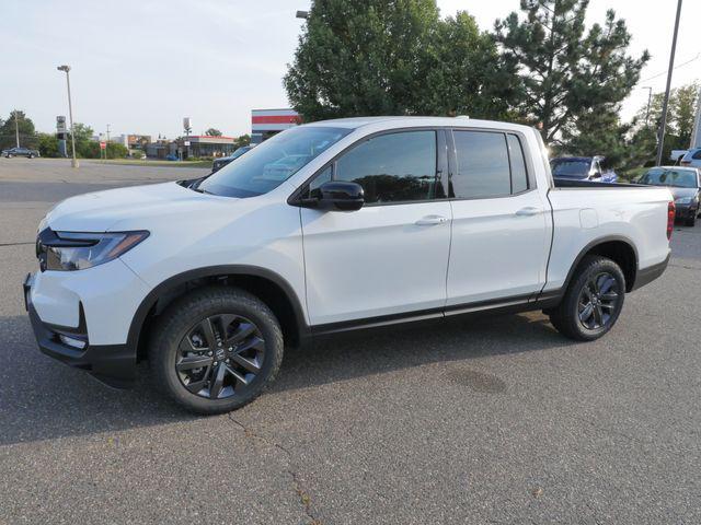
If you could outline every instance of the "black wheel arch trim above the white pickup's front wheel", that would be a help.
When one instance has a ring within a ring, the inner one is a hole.
[[[172,276],[141,301],[127,339],[129,348],[136,350],[137,361],[146,358],[148,335],[158,316],[183,294],[211,284],[238,287],[261,299],[278,318],[286,342],[299,345],[308,336],[309,326],[301,302],[283,277],[255,266],[211,266]]]

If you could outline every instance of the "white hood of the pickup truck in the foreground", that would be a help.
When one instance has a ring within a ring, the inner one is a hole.
[[[119,223],[143,222],[154,215],[168,218],[195,213],[205,202],[221,201],[222,197],[199,194],[177,183],[133,186],[71,197],[58,203],[46,215],[54,231],[107,232],[118,230]],[[226,198],[229,202],[231,198]]]

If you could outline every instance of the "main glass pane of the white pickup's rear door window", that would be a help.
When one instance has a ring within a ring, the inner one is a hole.
[[[490,131],[453,131],[457,173],[450,197],[474,199],[512,194],[506,136]]]

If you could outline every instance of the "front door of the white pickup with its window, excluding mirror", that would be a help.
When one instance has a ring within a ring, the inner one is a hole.
[[[310,183],[313,192],[326,180],[355,182],[366,199],[353,212],[301,209],[312,325],[441,315],[450,248],[446,150],[435,129],[383,132]]]

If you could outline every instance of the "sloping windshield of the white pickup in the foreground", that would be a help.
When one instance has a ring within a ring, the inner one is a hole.
[[[350,131],[313,126],[288,129],[204,179],[196,189],[225,197],[267,194]]]

